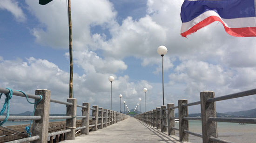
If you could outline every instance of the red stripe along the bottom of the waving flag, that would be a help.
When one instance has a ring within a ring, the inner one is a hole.
[[[198,24],[191,27],[188,31],[181,33],[182,37],[187,37],[187,35],[196,32],[204,26],[207,26],[215,21],[219,21],[224,26],[225,31],[235,37],[255,37],[256,36],[256,27],[242,27],[242,28],[229,28],[227,27],[222,19],[217,16],[209,16],[206,19],[203,19]]]

